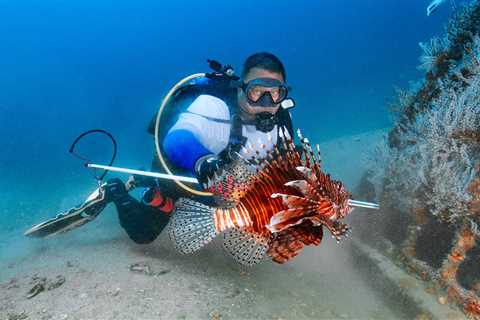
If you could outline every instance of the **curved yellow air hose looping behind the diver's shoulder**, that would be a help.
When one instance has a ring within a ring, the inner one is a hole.
[[[160,141],[159,141],[159,138],[158,138],[159,137],[159,132],[158,131],[160,129],[160,118],[162,116],[162,112],[165,109],[165,106],[170,101],[170,98],[178,90],[178,88],[180,88],[185,83],[187,83],[187,82],[189,82],[189,81],[191,81],[195,78],[200,78],[200,77],[203,78],[205,76],[206,76],[205,73],[195,73],[195,74],[192,74],[192,75],[190,75],[186,78],[183,78],[179,82],[177,82],[177,84],[175,86],[173,86],[172,89],[170,89],[170,91],[167,93],[165,98],[163,98],[162,104],[160,105],[160,109],[158,110],[157,119],[155,121],[155,148],[157,149],[158,159],[160,160],[160,163],[162,164],[163,169],[170,175],[173,175],[173,173],[168,168],[167,163],[165,162],[165,159],[163,159],[162,152],[160,151]],[[195,190],[195,189],[185,185],[183,182],[181,182],[179,180],[174,180],[174,181],[180,188],[182,188],[183,190],[188,191],[188,192],[190,192],[194,195],[197,195],[197,196],[213,196],[213,193],[211,193],[211,192],[198,191],[198,190]]]

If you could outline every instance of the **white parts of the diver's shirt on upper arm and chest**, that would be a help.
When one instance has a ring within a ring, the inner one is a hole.
[[[208,150],[214,154],[220,153],[228,145],[230,137],[230,112],[227,104],[214,96],[200,95],[181,113],[178,121],[170,129],[188,130]],[[254,125],[243,125],[242,135],[247,138],[246,145],[260,152],[260,157],[272,149],[277,142],[277,126],[270,132],[262,132]],[[265,146],[262,148],[262,144]],[[241,154],[246,155],[243,151]]]

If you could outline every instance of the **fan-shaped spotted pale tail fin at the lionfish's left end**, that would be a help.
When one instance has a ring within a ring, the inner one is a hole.
[[[177,250],[192,253],[213,240],[215,209],[188,198],[175,203],[175,212],[170,217],[168,233]]]

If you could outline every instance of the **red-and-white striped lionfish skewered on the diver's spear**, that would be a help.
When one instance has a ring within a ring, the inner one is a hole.
[[[303,150],[281,129],[263,159],[252,147],[243,150],[250,158],[237,153],[206,185],[220,207],[180,198],[169,223],[177,249],[192,253],[224,232],[225,249],[251,266],[265,255],[284,263],[304,246],[319,245],[323,227],[339,241],[348,231],[339,220],[352,210],[349,193],[322,172],[319,146],[315,154],[300,130],[298,137]]]

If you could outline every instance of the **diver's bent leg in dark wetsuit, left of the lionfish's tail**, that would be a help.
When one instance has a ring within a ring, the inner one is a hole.
[[[168,223],[169,216],[128,194],[120,179],[111,179],[108,192],[118,211],[120,225],[139,244],[154,241]]]

